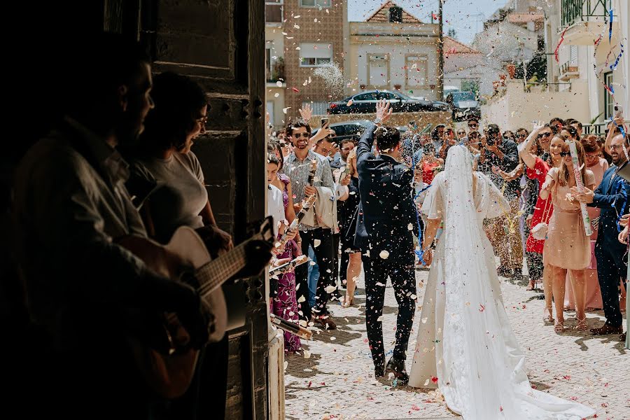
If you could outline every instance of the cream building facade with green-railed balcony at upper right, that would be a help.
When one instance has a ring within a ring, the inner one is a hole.
[[[589,121],[601,132],[615,116],[615,104],[628,119],[629,55],[621,54],[628,42],[630,4],[626,0],[554,0],[545,18],[545,36],[551,52],[547,58],[548,79],[558,90],[567,90],[575,80],[588,85]],[[612,25],[610,22],[612,10]],[[610,30],[612,29],[612,30]],[[595,46],[595,41],[601,41]],[[610,36],[610,38],[609,38]],[[553,54],[556,52],[556,54]],[[557,57],[557,58],[556,58]],[[617,59],[618,58],[618,59]]]

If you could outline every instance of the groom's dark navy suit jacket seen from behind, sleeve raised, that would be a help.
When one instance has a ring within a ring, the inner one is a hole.
[[[412,252],[413,235],[418,235],[412,197],[414,173],[387,155],[372,154],[374,130],[376,125],[368,127],[356,148],[361,201],[354,244],[364,252],[368,243],[389,253]]]

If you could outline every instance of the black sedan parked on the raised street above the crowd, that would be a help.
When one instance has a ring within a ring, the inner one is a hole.
[[[326,113],[374,113],[377,101],[385,99],[391,104],[393,112],[451,111],[444,102],[414,99],[400,92],[370,90],[353,94],[341,101],[330,102]]]

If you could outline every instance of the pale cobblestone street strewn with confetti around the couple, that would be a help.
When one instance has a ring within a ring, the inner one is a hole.
[[[416,270],[418,306],[423,299],[423,281],[428,271]],[[505,279],[504,279],[505,280]],[[342,292],[343,293],[343,292]],[[619,335],[594,337],[588,331],[572,330],[575,312],[565,315],[568,330],[561,335],[553,326],[542,325],[542,291],[503,283],[503,297],[512,328],[526,352],[530,381],[541,391],[582,402],[597,410],[598,419],[630,419],[630,355]],[[354,307],[330,304],[337,330],[316,331],[313,340],[302,342],[304,352],[286,356],[287,419],[451,419],[439,393],[391,381],[374,379],[374,365],[365,332],[365,290],[358,281]],[[397,305],[388,283],[383,314],[387,358],[391,356]],[[624,325],[625,325],[624,313]],[[603,324],[603,311],[588,312],[589,328]],[[409,339],[407,370],[416,343],[414,328]]]

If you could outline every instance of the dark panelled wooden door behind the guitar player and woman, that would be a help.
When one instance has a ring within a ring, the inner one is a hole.
[[[265,216],[264,3],[143,0],[138,16],[125,14],[139,22],[154,71],[192,76],[209,94],[208,133],[193,150],[217,222],[239,243],[248,223]],[[229,333],[226,418],[265,419],[264,281],[251,279],[243,286],[246,325]]]

